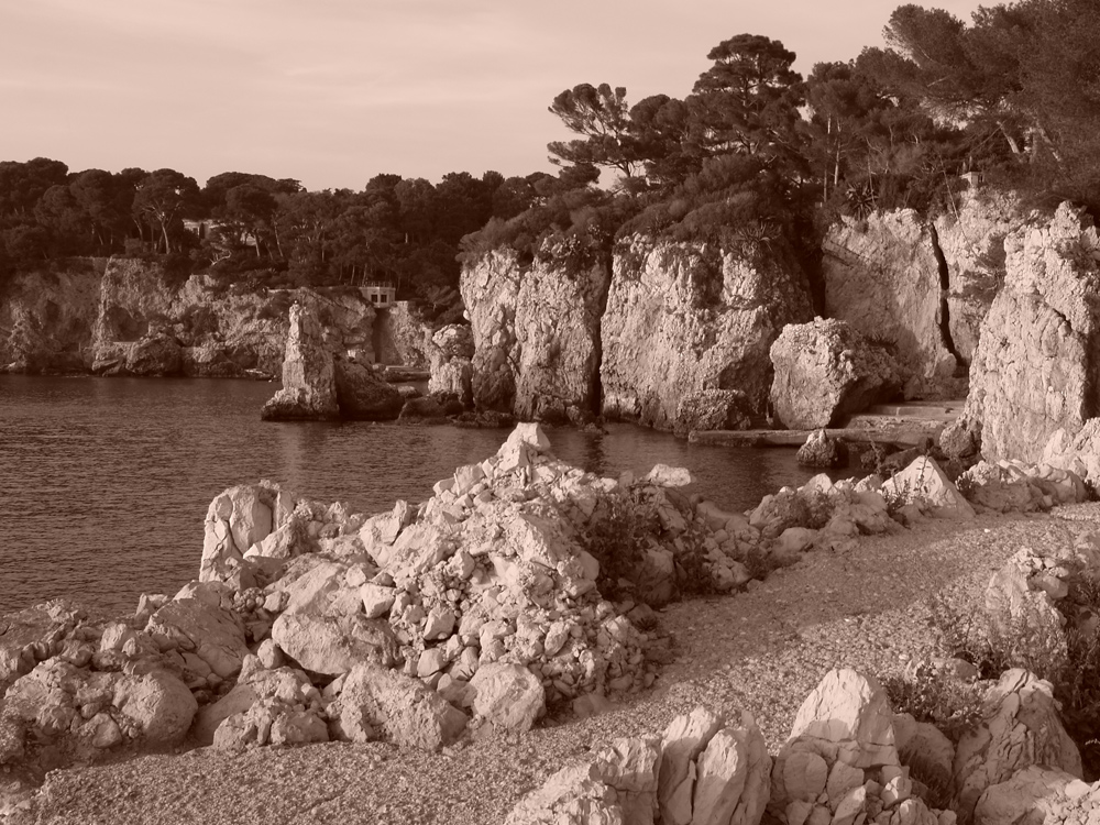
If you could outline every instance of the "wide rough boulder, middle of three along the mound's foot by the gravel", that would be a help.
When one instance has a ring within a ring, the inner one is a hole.
[[[351,741],[363,741],[365,721],[395,745],[421,750],[450,745],[466,726],[465,714],[424,682],[371,664],[352,668],[340,690],[339,713],[330,706],[329,715]]]

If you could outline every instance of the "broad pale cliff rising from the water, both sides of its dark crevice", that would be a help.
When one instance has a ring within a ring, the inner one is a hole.
[[[544,249],[529,266],[497,250],[462,276],[473,397],[520,418],[613,418],[673,429],[685,399],[737,391],[762,414],[768,349],[812,317],[785,250],[735,254],[631,239],[605,253]]]

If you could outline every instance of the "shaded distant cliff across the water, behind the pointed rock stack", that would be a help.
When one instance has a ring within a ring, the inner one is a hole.
[[[359,289],[307,290],[327,345],[363,363],[422,362],[418,320],[385,323]],[[84,258],[0,288],[0,372],[277,377],[296,293],[248,290],[209,274],[180,279],[154,262]],[[376,345],[377,344],[377,345]]]

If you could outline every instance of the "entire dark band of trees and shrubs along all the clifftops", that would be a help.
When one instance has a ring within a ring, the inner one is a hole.
[[[377,175],[362,191],[309,193],[240,172],[199,188],[174,169],[0,162],[0,278],[51,257],[158,254],[261,284],[388,280],[446,307],[457,255],[507,245],[532,260],[553,238],[603,250],[634,232],[785,238],[812,264],[839,215],[952,209],[964,173],[1028,205],[1100,211],[1100,0],[1020,0],[970,23],[908,4],[884,35],[886,48],[806,78],[779,41],[739,34],[682,99],[565,89],[550,111],[576,136],[549,144],[557,176]],[[213,224],[200,238],[185,218]]]

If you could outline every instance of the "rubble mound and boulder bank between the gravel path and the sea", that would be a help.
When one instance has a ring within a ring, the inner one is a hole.
[[[56,811],[48,783],[28,795],[46,771],[118,755],[381,739],[441,749],[446,763],[518,741],[548,713],[557,729],[645,704],[676,690],[674,648],[692,647],[666,627],[678,595],[748,586],[719,600],[736,605],[782,581],[761,585],[769,570],[843,560],[860,535],[974,517],[925,458],[884,483],[817,476],[744,516],[678,493],[689,480],[661,466],[592,476],[526,425],[429,502],[371,518],[271,485],[227,491],[207,516],[200,581],[174,597],[100,626],[61,604],[6,618],[6,810],[15,822]],[[1021,466],[974,473],[968,495],[986,512],[1042,513],[1086,490]]]

